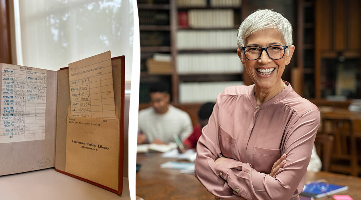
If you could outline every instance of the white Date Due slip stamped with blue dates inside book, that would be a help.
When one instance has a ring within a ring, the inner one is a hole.
[[[3,64],[0,143],[44,140],[47,72]]]

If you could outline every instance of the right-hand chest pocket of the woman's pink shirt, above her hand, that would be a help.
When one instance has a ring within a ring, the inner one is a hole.
[[[270,173],[273,164],[281,157],[281,149],[253,147],[252,167],[257,172]]]

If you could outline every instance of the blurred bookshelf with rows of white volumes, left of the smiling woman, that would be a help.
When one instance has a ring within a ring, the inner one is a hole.
[[[225,4],[227,2],[228,4]],[[241,21],[240,0],[208,2],[206,0],[169,0],[162,1],[162,3],[156,0],[153,2],[138,1],[138,10],[141,36],[140,103],[148,102],[147,87],[155,82],[164,82],[169,87],[171,101],[174,104],[182,103],[180,99],[184,99],[179,91],[179,88],[183,88],[182,84],[212,87],[216,82],[238,84],[239,82],[236,81],[242,80],[243,67],[236,54],[237,47],[234,39]],[[169,23],[158,25],[154,23],[153,19],[144,19],[143,21],[144,16],[154,16],[152,14],[155,12],[167,12]],[[182,16],[187,17],[187,24],[182,22]],[[149,24],[147,21],[153,23]],[[217,40],[217,38],[231,38],[231,35],[233,40],[229,41],[228,46],[220,45],[225,42],[222,40],[213,42],[213,46],[209,45],[212,44],[209,41]],[[155,36],[169,38],[169,45],[152,44],[152,41],[149,40]],[[143,38],[144,42],[142,42]],[[193,41],[182,42],[182,39],[187,41],[187,38],[193,38]],[[197,42],[199,43],[197,44]],[[171,55],[172,70],[170,73],[151,74],[148,72],[147,59],[155,53]],[[222,56],[226,56],[226,58],[233,56],[232,60],[234,61],[227,63],[227,59]],[[222,66],[225,63],[228,68]],[[214,100],[215,98],[216,96]],[[188,101],[185,100],[183,103]]]

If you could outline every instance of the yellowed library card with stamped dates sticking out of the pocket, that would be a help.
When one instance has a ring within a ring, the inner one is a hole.
[[[110,51],[69,64],[71,116],[116,118]]]

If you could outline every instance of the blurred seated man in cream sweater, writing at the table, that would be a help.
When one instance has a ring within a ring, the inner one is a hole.
[[[192,121],[188,113],[169,104],[170,94],[164,85],[149,88],[152,106],[139,111],[138,144],[166,144],[175,142],[173,135],[181,140],[192,132]]]

